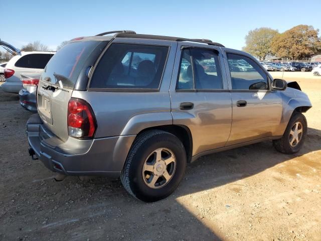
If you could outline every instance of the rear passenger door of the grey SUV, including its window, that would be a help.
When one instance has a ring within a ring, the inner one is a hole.
[[[190,130],[193,156],[225,146],[232,101],[219,47],[179,43],[170,95],[173,123]]]

